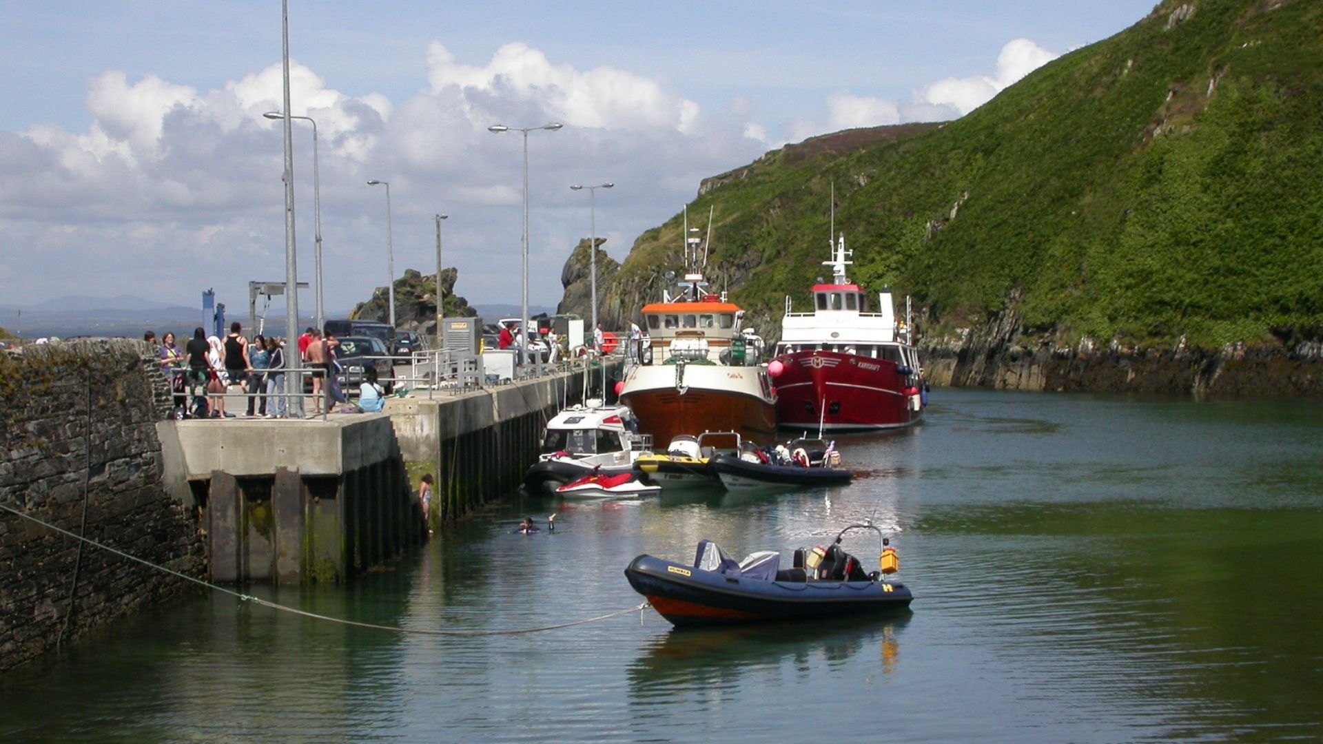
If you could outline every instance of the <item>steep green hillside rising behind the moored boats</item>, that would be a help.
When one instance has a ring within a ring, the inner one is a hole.
[[[1011,307],[1072,340],[1316,339],[1323,3],[1168,0],[959,120],[828,135],[709,179],[689,220],[716,208],[713,285],[773,324],[785,295],[804,303],[832,185],[852,278],[913,295],[930,335]],[[638,240],[613,310],[656,294],[680,232],[677,216]]]

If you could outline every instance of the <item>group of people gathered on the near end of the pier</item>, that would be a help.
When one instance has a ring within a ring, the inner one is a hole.
[[[258,334],[249,342],[242,326],[234,322],[224,340],[206,336],[201,327],[194,328],[183,349],[171,332],[157,342],[156,334],[147,331],[143,340],[160,344],[160,365],[171,380],[175,405],[191,410],[193,417],[234,418],[234,413],[225,410],[225,396],[232,388],[247,396],[247,417],[287,418],[292,413],[284,392],[290,367],[282,339]],[[299,364],[307,367],[312,377],[311,416],[321,414],[324,392],[335,395],[337,401],[345,400],[337,395],[331,376],[339,346],[332,334],[311,327],[299,336]],[[323,391],[323,385],[331,387]],[[376,413],[384,408],[385,392],[374,368],[365,372],[359,393],[359,408],[364,412]]]

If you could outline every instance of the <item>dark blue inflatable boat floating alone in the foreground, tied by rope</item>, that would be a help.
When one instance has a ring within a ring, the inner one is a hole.
[[[865,573],[859,560],[840,548],[851,530],[872,530],[882,543],[881,571]],[[624,576],[652,609],[677,626],[808,620],[853,613],[900,610],[914,596],[904,584],[884,581],[900,568],[896,551],[872,524],[851,524],[826,548],[795,551],[791,568],[781,568],[781,553],[757,552],[736,563],[710,540],[700,540],[693,565],[642,555]]]

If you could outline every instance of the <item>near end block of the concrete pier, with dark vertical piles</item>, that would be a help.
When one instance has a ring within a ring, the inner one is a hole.
[[[384,413],[157,429],[167,487],[205,515],[213,581],[343,581],[422,540]]]

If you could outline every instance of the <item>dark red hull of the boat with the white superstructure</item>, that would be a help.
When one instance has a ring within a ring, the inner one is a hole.
[[[787,429],[897,429],[923,416],[905,393],[910,380],[890,361],[831,351],[777,357],[777,416]]]

